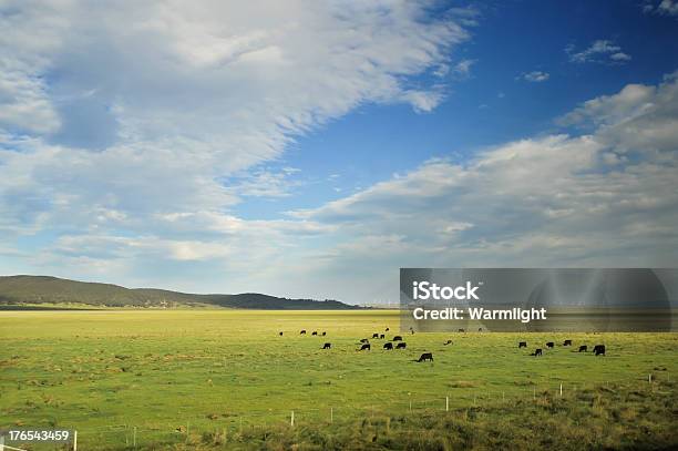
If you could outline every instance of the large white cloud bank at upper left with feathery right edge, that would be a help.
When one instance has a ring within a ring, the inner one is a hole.
[[[468,14],[428,6],[3,2],[0,227],[285,195],[290,175],[266,164],[297,135],[369,102],[439,104],[441,85],[409,80],[449,63]]]

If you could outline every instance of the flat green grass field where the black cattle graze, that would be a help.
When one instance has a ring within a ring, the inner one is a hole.
[[[407,350],[357,351],[386,327],[400,334],[396,311],[3,311],[0,428],[76,429],[79,450],[678,445],[678,335],[402,334]]]

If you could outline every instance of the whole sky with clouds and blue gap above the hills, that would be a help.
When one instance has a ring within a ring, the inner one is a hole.
[[[0,0],[0,275],[393,303],[677,224],[676,0]]]

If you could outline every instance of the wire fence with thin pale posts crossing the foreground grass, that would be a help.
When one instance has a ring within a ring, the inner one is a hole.
[[[135,450],[151,445],[188,443],[189,441],[227,440],[234,435],[263,434],[276,428],[327,428],[335,423],[345,423],[357,419],[413,418],[422,414],[455,414],[469,409],[494,409],[514,406],[517,401],[534,402],[587,402],[581,399],[583,392],[590,390],[628,389],[645,390],[651,396],[672,396],[675,385],[668,371],[654,375],[639,375],[633,380],[606,380],[599,382],[568,383],[566,380],[552,380],[545,385],[525,385],[511,391],[481,390],[476,388],[453,388],[449,393],[438,396],[403,393],[402,397],[362,406],[323,406],[318,408],[292,408],[288,410],[243,411],[226,417],[188,417],[177,418],[174,428],[166,422],[144,422],[140,424],[112,424],[101,428],[80,430],[80,445],[88,450],[94,444],[110,449]],[[603,391],[603,396],[606,391]],[[600,393],[597,393],[600,396]],[[218,411],[218,404],[213,406]],[[223,407],[223,406],[222,406]],[[12,444],[20,447],[20,444]],[[4,447],[7,451],[21,448]],[[31,448],[31,450],[34,448]],[[49,449],[49,448],[44,448]],[[64,448],[52,448],[63,450]],[[72,449],[76,449],[72,447]],[[2,445],[0,444],[0,451]]]

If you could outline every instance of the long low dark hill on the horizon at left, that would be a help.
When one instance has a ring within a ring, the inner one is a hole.
[[[268,310],[357,309],[338,300],[287,299],[257,293],[195,295],[154,288],[85,283],[50,276],[0,276],[0,307],[28,305],[95,307],[225,307]]]

